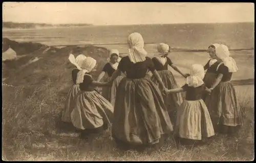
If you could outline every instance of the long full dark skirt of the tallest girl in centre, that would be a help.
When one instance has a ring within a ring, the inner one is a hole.
[[[124,77],[117,89],[112,136],[130,145],[153,145],[173,131],[158,87],[149,78]]]

